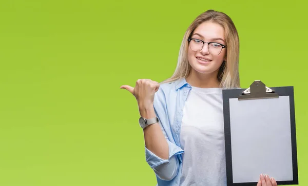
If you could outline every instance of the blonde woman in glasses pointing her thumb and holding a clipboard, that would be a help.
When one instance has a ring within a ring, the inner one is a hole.
[[[232,19],[208,10],[188,27],[169,79],[121,86],[137,99],[146,161],[159,186],[226,185],[222,89],[239,88],[238,61]],[[257,185],[277,183],[260,175]]]

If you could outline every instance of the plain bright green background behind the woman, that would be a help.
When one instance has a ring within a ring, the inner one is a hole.
[[[294,86],[299,182],[308,185],[306,7],[2,0],[0,185],[155,185],[136,99],[120,86],[171,76],[185,30],[208,9],[236,24],[242,88]]]

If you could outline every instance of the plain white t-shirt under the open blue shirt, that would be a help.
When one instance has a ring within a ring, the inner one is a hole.
[[[183,108],[181,186],[226,185],[222,89],[192,87]]]

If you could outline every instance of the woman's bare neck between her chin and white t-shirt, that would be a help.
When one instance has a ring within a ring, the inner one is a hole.
[[[186,81],[192,87],[220,88],[220,82],[217,78],[217,74],[218,72],[213,72],[211,74],[201,74],[192,69],[186,78]]]

